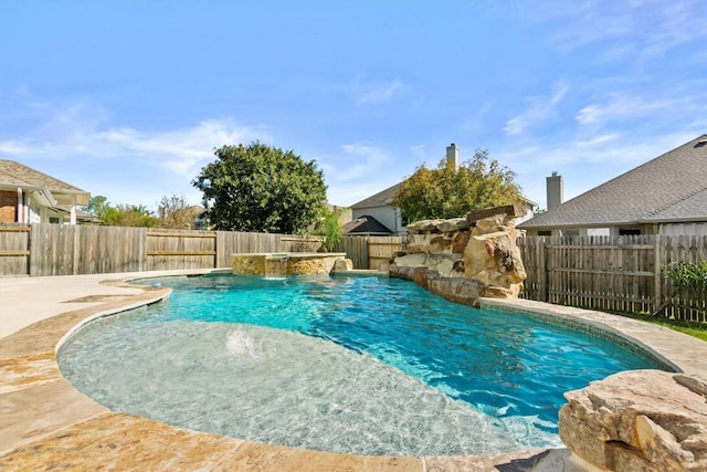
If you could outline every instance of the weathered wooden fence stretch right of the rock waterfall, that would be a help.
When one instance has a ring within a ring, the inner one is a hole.
[[[525,237],[518,239],[528,273],[521,296],[609,312],[707,322],[704,296],[680,298],[663,276],[667,264],[707,260],[707,237]]]

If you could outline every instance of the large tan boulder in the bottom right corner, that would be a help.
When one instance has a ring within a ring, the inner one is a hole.
[[[707,377],[631,370],[564,397],[560,439],[600,470],[707,471]]]

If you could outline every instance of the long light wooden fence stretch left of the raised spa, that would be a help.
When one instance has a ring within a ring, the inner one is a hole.
[[[71,224],[0,225],[0,275],[230,268],[231,254],[309,252],[320,237]]]

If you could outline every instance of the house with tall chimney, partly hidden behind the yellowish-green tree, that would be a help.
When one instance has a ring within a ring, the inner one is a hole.
[[[458,147],[452,143],[446,147],[446,159],[450,165],[453,165],[458,169],[460,167],[460,149]],[[393,207],[392,201],[393,197],[400,189],[400,183],[395,183],[394,186],[387,188],[386,190],[378,192],[367,199],[359,201],[351,206],[352,219],[357,221],[361,218],[367,218],[369,221],[374,220],[380,227],[388,229],[389,235],[404,235],[408,232],[405,231],[405,224],[410,221],[403,221],[402,214],[400,212],[400,208]],[[527,219],[532,217],[532,209],[537,207],[537,204],[528,199],[523,198],[521,206],[524,207],[525,214],[521,218],[516,220],[516,223],[520,221],[526,221]],[[463,217],[463,214],[460,214]],[[372,223],[371,223],[372,224]],[[381,229],[379,227],[379,229]],[[382,231],[382,229],[381,229]],[[345,230],[347,234],[356,234],[350,233]],[[380,234],[382,235],[382,234]]]

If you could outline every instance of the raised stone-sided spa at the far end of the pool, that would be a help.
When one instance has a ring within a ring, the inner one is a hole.
[[[338,261],[346,265],[344,252],[276,252],[233,254],[232,269],[241,275],[309,275],[328,274]]]

